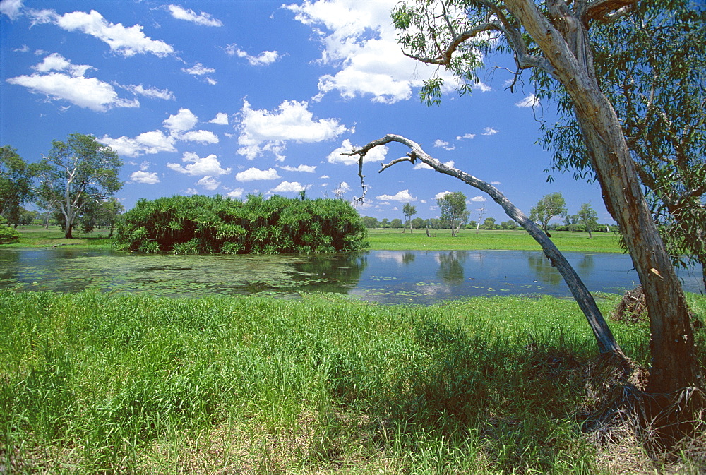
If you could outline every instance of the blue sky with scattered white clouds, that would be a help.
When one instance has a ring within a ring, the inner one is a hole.
[[[397,0],[32,1],[0,3],[0,143],[30,162],[52,140],[91,134],[124,160],[126,208],[139,198],[249,193],[360,195],[357,166],[340,155],[397,133],[442,162],[496,185],[529,214],[560,191],[568,212],[591,203],[613,222],[596,184],[543,171],[536,145],[551,104],[532,85],[507,88],[512,62],[490,67],[471,95],[419,101],[436,68],[402,55],[389,13]],[[496,67],[499,66],[499,67]],[[444,75],[444,71],[439,71]],[[452,84],[453,81],[448,81]],[[469,198],[471,219],[508,220],[483,193],[429,169],[369,154],[361,215],[438,217],[445,191]]]

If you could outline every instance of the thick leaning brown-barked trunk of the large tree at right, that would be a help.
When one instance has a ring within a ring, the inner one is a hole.
[[[551,1],[551,23],[530,0],[507,0],[554,67],[574,104],[576,119],[613,215],[645,291],[652,368],[647,390],[665,393],[698,382],[693,330],[681,283],[657,232],[616,113],[600,90],[585,23],[563,1]]]

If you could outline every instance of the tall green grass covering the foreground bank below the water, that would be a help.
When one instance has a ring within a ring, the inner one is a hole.
[[[573,301],[0,291],[0,308],[1,472],[664,468],[582,433],[595,345]],[[644,363],[647,328],[613,327]]]

